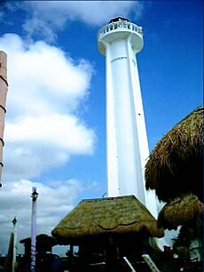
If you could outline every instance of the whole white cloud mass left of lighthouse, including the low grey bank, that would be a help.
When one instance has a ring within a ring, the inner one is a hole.
[[[0,37],[0,50],[8,55],[9,81],[0,197],[0,251],[5,252],[14,216],[19,221],[18,240],[30,236],[33,186],[40,194],[38,233],[49,234],[73,208],[81,182],[49,185],[31,180],[41,179],[43,172],[66,164],[71,156],[92,154],[96,136],[78,116],[90,92],[89,61],[75,62],[55,46],[42,41],[26,44],[14,34]]]

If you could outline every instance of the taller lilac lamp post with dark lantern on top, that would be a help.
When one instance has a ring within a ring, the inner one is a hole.
[[[31,216],[31,262],[30,271],[35,272],[35,246],[36,246],[36,199],[38,193],[36,188],[33,187],[32,197],[32,216]]]

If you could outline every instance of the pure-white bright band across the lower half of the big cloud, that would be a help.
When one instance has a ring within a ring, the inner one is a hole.
[[[92,151],[93,132],[80,124],[75,116],[49,115],[24,117],[7,124],[5,138],[8,143],[55,146],[68,154],[89,154]]]

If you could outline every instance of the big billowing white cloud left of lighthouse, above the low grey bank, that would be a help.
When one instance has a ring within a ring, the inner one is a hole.
[[[89,95],[90,63],[14,34],[0,37],[0,48],[8,54],[6,179],[30,179],[72,155],[92,154],[95,134],[75,115]]]

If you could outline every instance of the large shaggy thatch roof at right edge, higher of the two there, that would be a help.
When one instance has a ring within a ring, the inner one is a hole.
[[[145,164],[145,187],[164,202],[183,194],[202,200],[203,107],[175,125]]]

